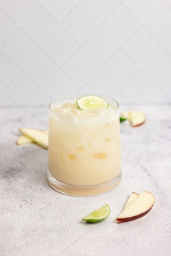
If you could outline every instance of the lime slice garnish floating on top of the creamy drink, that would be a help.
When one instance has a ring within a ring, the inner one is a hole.
[[[96,95],[82,96],[76,101],[80,110],[107,109],[107,102]]]

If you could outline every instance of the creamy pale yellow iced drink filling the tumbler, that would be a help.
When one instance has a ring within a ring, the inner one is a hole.
[[[79,110],[75,102],[51,105],[49,173],[75,186],[94,186],[120,175],[120,119],[116,104]]]

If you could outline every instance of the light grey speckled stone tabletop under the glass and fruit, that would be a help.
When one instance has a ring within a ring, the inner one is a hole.
[[[46,129],[46,107],[1,107],[0,255],[144,256],[171,253],[171,105],[122,106],[141,110],[138,128],[121,125],[122,182],[97,197],[68,197],[46,181],[47,151],[34,144],[17,146],[18,128]],[[151,191],[156,203],[149,215],[117,224],[131,191]],[[104,203],[107,220],[81,218]]]

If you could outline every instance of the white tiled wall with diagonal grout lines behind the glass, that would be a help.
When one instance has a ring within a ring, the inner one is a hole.
[[[171,102],[171,0],[0,0],[0,105]]]

